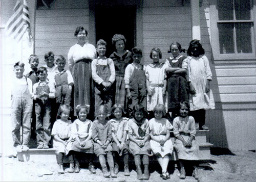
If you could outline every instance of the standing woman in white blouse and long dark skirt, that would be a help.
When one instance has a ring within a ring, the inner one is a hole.
[[[77,43],[69,49],[68,65],[74,79],[74,107],[89,105],[88,118],[94,117],[94,93],[91,62],[96,58],[96,48],[88,43],[88,31],[77,27]]]

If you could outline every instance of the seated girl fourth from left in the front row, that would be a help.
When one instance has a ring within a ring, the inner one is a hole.
[[[122,117],[123,108],[121,105],[116,103],[112,107],[112,114],[115,116],[114,119],[111,119],[112,124],[112,137],[113,137],[113,155],[115,162],[115,174],[118,174],[120,161],[119,155],[123,154],[123,163],[124,163],[124,175],[130,176],[129,171],[129,140],[127,138],[128,133],[128,118]]]

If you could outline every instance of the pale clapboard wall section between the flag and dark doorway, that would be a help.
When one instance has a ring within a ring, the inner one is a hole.
[[[82,25],[89,28],[89,8],[74,7],[67,9],[65,6],[52,4],[52,9],[37,10],[35,53],[39,57],[40,65],[45,64],[44,55],[50,50],[67,59],[70,47],[77,42],[74,37],[76,27]]]

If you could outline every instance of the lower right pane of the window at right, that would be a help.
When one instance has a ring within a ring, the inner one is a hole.
[[[251,26],[252,23],[236,23],[238,53],[252,53]]]

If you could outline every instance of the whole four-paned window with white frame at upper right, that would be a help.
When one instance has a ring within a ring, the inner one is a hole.
[[[250,0],[215,0],[210,5],[215,60],[255,59],[253,5]]]

